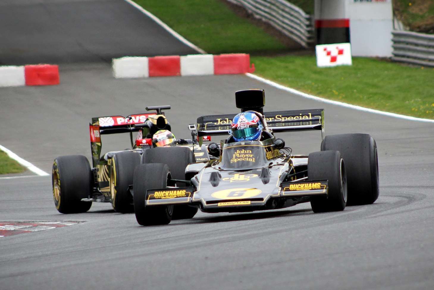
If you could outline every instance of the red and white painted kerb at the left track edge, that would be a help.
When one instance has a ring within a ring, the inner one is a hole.
[[[0,237],[72,226],[82,221],[0,221]]]

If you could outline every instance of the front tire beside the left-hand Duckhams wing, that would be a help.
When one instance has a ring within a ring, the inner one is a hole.
[[[171,175],[166,164],[140,164],[135,168],[133,181],[134,212],[140,225],[168,224],[172,220],[173,205],[145,205],[146,191],[166,188],[169,178]]]

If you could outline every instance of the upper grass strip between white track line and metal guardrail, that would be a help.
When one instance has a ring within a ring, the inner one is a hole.
[[[207,53],[272,53],[286,47],[221,0],[135,0]]]

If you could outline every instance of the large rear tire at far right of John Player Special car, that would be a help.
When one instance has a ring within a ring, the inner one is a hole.
[[[329,135],[321,142],[321,151],[341,152],[347,169],[348,205],[372,204],[380,193],[378,152],[368,134]]]

